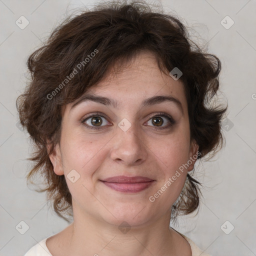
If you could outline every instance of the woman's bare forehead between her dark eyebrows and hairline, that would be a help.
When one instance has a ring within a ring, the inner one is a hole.
[[[118,70],[116,71],[116,68]],[[180,79],[174,80],[170,75],[160,71],[153,53],[144,51],[131,61],[109,68],[107,75],[89,88],[82,96],[94,94],[114,99],[116,107],[142,102],[155,95],[168,95],[177,98],[186,109],[184,86]],[[79,101],[69,103],[70,108]]]

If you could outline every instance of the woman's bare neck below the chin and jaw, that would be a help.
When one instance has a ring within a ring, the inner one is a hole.
[[[176,255],[177,239],[169,228],[170,212],[154,222],[121,227],[74,212],[67,227],[67,254],[85,255]]]

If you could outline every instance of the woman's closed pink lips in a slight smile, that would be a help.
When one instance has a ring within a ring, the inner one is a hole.
[[[148,188],[156,180],[142,176],[114,176],[100,181],[116,191],[134,193]]]

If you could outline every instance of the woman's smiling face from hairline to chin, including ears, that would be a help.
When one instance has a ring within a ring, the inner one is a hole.
[[[143,52],[84,96],[65,106],[60,143],[50,155],[74,214],[116,225],[169,215],[198,149],[190,143],[182,82]]]

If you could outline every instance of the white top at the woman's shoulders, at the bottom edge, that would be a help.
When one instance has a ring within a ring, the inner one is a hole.
[[[192,256],[210,256],[209,254],[202,252],[202,250],[191,239],[186,237],[184,234],[181,234],[181,233],[179,233],[179,234],[182,235],[188,241],[188,243],[190,244],[191,251],[192,251]],[[50,237],[50,236],[48,236],[48,237]],[[24,256],[53,256],[49,252],[49,250],[46,246],[46,239],[48,237],[44,238],[43,240],[41,240],[40,242],[35,244],[33,247],[31,247],[25,253]]]

